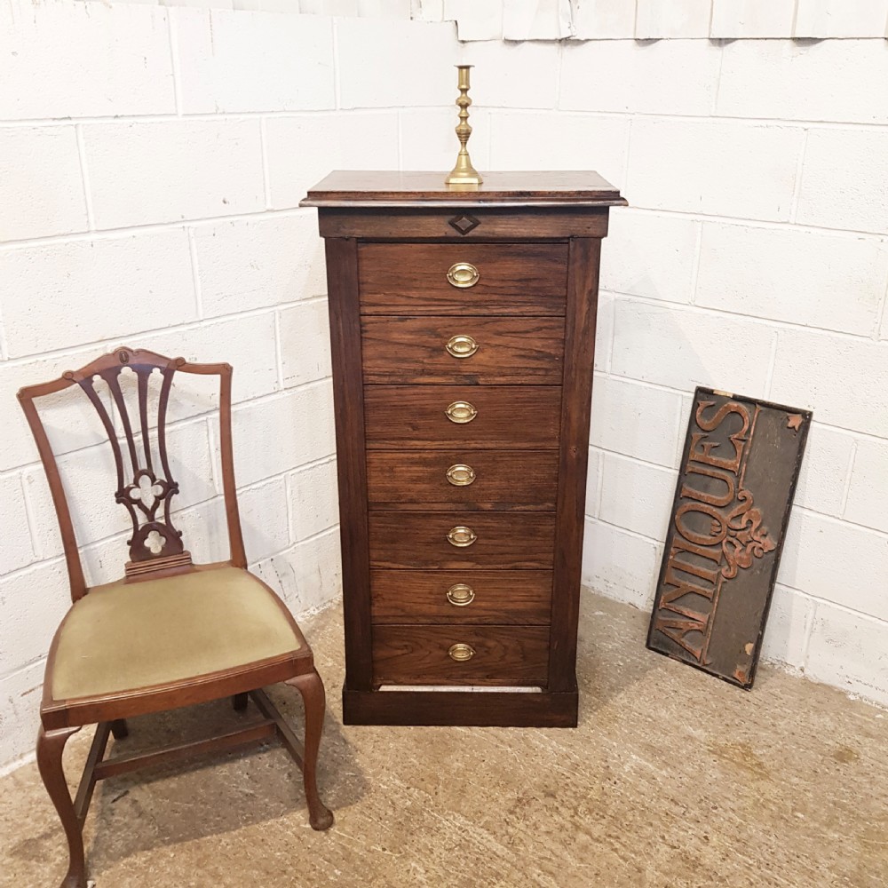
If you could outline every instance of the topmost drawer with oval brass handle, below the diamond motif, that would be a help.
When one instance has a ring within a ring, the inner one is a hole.
[[[448,270],[469,263],[472,287]],[[362,314],[565,313],[566,243],[362,243],[358,248]]]

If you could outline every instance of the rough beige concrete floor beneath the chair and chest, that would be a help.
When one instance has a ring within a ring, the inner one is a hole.
[[[100,783],[99,888],[884,888],[888,713],[762,669],[744,693],[644,648],[646,615],[586,596],[576,730],[344,727],[342,614],[305,622],[328,688],[308,827],[280,748]],[[300,720],[288,689],[275,693]],[[131,722],[134,748],[234,718]],[[300,728],[301,730],[301,728]],[[79,773],[91,732],[68,746]],[[0,781],[0,884],[59,884],[58,821],[26,765]]]

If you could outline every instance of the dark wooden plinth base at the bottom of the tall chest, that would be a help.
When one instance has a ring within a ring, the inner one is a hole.
[[[479,699],[480,698],[480,699]],[[577,693],[342,691],[345,725],[576,727]]]

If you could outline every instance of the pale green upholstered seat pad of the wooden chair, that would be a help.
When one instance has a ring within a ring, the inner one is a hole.
[[[163,685],[295,652],[281,605],[239,567],[96,586],[59,628],[54,700]]]

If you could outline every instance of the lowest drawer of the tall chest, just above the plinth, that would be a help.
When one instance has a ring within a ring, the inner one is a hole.
[[[451,659],[454,645],[471,646],[472,658]],[[548,673],[547,626],[373,627],[376,685],[544,686]]]

